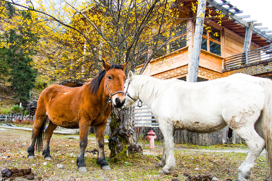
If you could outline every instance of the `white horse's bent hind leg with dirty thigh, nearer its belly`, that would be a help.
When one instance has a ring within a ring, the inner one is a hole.
[[[259,136],[253,125],[246,125],[245,127],[233,129],[233,131],[245,140],[249,148],[246,159],[238,168],[238,176],[236,178],[236,181],[247,181],[251,177],[255,160],[265,148],[265,140]]]

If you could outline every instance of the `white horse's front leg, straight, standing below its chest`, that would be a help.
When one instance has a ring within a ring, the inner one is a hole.
[[[159,165],[164,165],[159,171],[160,174],[169,174],[175,168],[175,157],[174,157],[174,137],[173,137],[173,126],[168,123],[160,124],[161,133],[163,134],[163,156]]]

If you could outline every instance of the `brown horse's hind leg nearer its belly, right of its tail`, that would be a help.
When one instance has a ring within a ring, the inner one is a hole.
[[[45,160],[52,160],[49,150],[49,142],[52,137],[54,129],[56,129],[57,125],[52,123],[52,121],[49,120],[48,127],[45,130],[45,145],[43,147],[42,154],[44,155]]]

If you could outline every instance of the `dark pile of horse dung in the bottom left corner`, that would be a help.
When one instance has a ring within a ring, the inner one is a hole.
[[[12,169],[6,168],[1,171],[1,174],[2,174],[1,180],[7,180],[8,178],[9,180],[15,180],[15,177],[25,177],[28,180],[34,179],[34,173],[31,172],[31,168],[27,168],[27,169],[25,168],[18,169],[16,167]]]

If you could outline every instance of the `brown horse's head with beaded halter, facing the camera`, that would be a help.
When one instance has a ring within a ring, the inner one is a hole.
[[[107,97],[111,97],[113,106],[116,108],[120,108],[125,103],[125,95],[124,95],[124,83],[126,79],[126,75],[124,70],[126,69],[126,65],[128,62],[117,65],[110,65],[105,61],[102,61],[103,68],[106,70],[105,78],[105,92]]]

